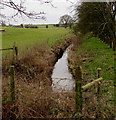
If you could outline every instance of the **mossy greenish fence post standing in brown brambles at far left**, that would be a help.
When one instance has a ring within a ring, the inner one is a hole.
[[[14,66],[10,66],[10,97],[11,101],[15,100]]]

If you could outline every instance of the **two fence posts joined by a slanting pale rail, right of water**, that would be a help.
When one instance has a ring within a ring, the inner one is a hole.
[[[82,104],[83,104],[83,97],[82,94],[84,91],[90,89],[92,86],[96,86],[96,93],[97,93],[97,103],[98,103],[98,108],[99,102],[100,102],[100,86],[101,86],[101,81],[103,81],[103,78],[101,77],[101,68],[97,69],[97,77],[98,79],[93,80],[92,82],[82,86],[82,68],[80,66],[77,67],[76,69],[76,84],[75,84],[75,93],[76,93],[76,110],[79,113],[82,113]],[[99,110],[98,110],[99,111]]]

